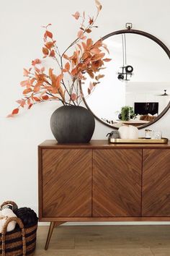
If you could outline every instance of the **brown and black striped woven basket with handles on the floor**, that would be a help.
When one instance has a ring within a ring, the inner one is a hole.
[[[17,227],[13,231],[6,232],[10,221],[17,221]],[[36,234],[37,223],[32,223],[30,226],[24,226],[20,218],[8,218],[4,225],[4,229],[0,234],[0,255],[32,256],[36,246]]]

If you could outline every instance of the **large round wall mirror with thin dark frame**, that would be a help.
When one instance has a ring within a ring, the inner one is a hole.
[[[170,106],[170,51],[158,38],[140,30],[119,30],[102,38],[111,61],[88,97],[91,78],[81,90],[94,116],[109,127],[147,127]]]

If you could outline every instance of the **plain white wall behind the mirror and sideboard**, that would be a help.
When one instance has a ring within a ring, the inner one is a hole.
[[[156,35],[170,47],[169,0],[103,0],[102,5],[94,40],[133,22],[133,28]],[[10,199],[37,211],[37,145],[53,139],[49,120],[58,103],[37,104],[14,119],[5,116],[21,97],[22,68],[42,56],[41,25],[53,24],[62,51],[79,25],[71,14],[93,14],[96,7],[93,0],[0,0],[0,6],[0,202]],[[169,119],[170,111],[151,129],[159,127],[164,137],[170,137]],[[110,130],[96,121],[93,139],[105,139]]]

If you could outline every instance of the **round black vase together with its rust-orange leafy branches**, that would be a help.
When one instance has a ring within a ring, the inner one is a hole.
[[[96,43],[89,38],[91,31],[97,26],[97,20],[102,5],[95,0],[97,6],[96,17],[86,20],[85,12],[73,14],[76,20],[81,20],[81,25],[76,39],[61,54],[53,33],[49,30],[51,24],[45,26],[43,58],[55,61],[57,72],[50,68],[45,69],[40,59],[32,61],[30,69],[24,69],[26,79],[20,83],[24,88],[23,97],[17,101],[19,106],[14,108],[9,116],[16,116],[20,108],[32,108],[36,103],[45,101],[60,101],[63,106],[58,108],[51,116],[50,127],[58,142],[89,142],[94,132],[94,116],[86,108],[80,106],[84,97],[80,89],[86,75],[91,77],[88,94],[99,84],[104,77],[100,71],[104,68],[107,46],[102,40]],[[73,53],[70,50],[73,48]]]

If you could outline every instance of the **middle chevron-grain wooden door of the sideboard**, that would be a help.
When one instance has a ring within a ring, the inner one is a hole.
[[[142,150],[94,150],[93,168],[93,216],[140,216]]]

